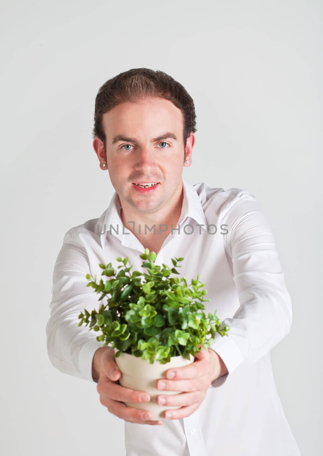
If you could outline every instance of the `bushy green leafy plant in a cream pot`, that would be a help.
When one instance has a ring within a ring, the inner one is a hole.
[[[163,419],[166,409],[177,409],[174,406],[156,404],[158,378],[166,378],[169,368],[181,367],[193,363],[202,345],[207,348],[218,332],[222,337],[227,335],[229,326],[220,329],[221,321],[208,312],[206,317],[203,299],[207,290],[199,290],[204,284],[192,280],[188,285],[185,277],[170,277],[179,274],[176,268],[184,258],[172,258],[173,267],[154,264],[155,252],[139,255],[143,259],[142,267],[147,273],[133,271],[132,265],[126,267],[128,257],[116,260],[121,262],[117,272],[112,263],[99,264],[102,274],[109,279],[101,278],[96,283],[89,280],[94,292],[101,294],[99,301],[108,296],[107,304],[102,304],[99,311],[89,313],[86,309],[80,313],[78,326],[89,325],[89,331],[101,331],[97,340],[103,342],[102,347],[112,342],[111,350],[115,349],[115,362],[120,369],[121,386],[146,391],[151,396],[147,403],[125,403],[130,407],[151,411],[153,420]],[[123,268],[123,269],[121,269]],[[141,276],[144,281],[141,282]],[[189,288],[192,287],[192,290]],[[89,320],[90,319],[90,320]],[[210,336],[209,338],[207,336]],[[163,391],[163,394],[178,394],[180,391]]]

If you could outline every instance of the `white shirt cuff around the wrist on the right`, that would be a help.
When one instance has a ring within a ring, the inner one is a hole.
[[[238,345],[229,335],[222,337],[221,334],[216,333],[214,341],[209,347],[212,348],[214,352],[218,353],[219,357],[228,369],[228,373],[222,375],[222,377],[216,378],[209,386],[209,388],[217,388],[221,386],[228,378],[228,375],[244,361],[244,357]]]

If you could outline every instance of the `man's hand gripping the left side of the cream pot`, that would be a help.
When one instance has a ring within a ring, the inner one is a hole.
[[[123,402],[148,402],[151,398],[145,391],[124,388],[117,381],[121,372],[115,363],[115,350],[103,350],[99,359],[99,381],[97,391],[100,402],[110,413],[121,420],[141,425],[162,425],[164,420],[151,420],[151,412],[127,407]]]

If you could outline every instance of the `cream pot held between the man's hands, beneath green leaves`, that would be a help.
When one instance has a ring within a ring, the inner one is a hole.
[[[115,348],[115,352],[119,350]],[[151,397],[149,402],[124,402],[128,407],[135,409],[149,410],[152,420],[165,420],[163,415],[165,410],[179,409],[179,406],[156,404],[156,397],[163,394],[179,394],[182,391],[166,391],[156,388],[156,381],[159,378],[166,378],[166,372],[171,368],[179,368],[192,364],[194,357],[190,354],[190,359],[184,356],[173,356],[169,363],[160,364],[156,360],[150,364],[148,360],[122,352],[119,358],[115,358],[115,363],[120,369],[121,376],[119,383],[125,388],[145,391]]]

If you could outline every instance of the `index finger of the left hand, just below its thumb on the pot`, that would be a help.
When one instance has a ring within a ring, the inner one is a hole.
[[[118,383],[111,382],[108,378],[102,379],[98,383],[97,390],[100,396],[120,402],[149,402],[151,399],[145,391],[125,388]]]

